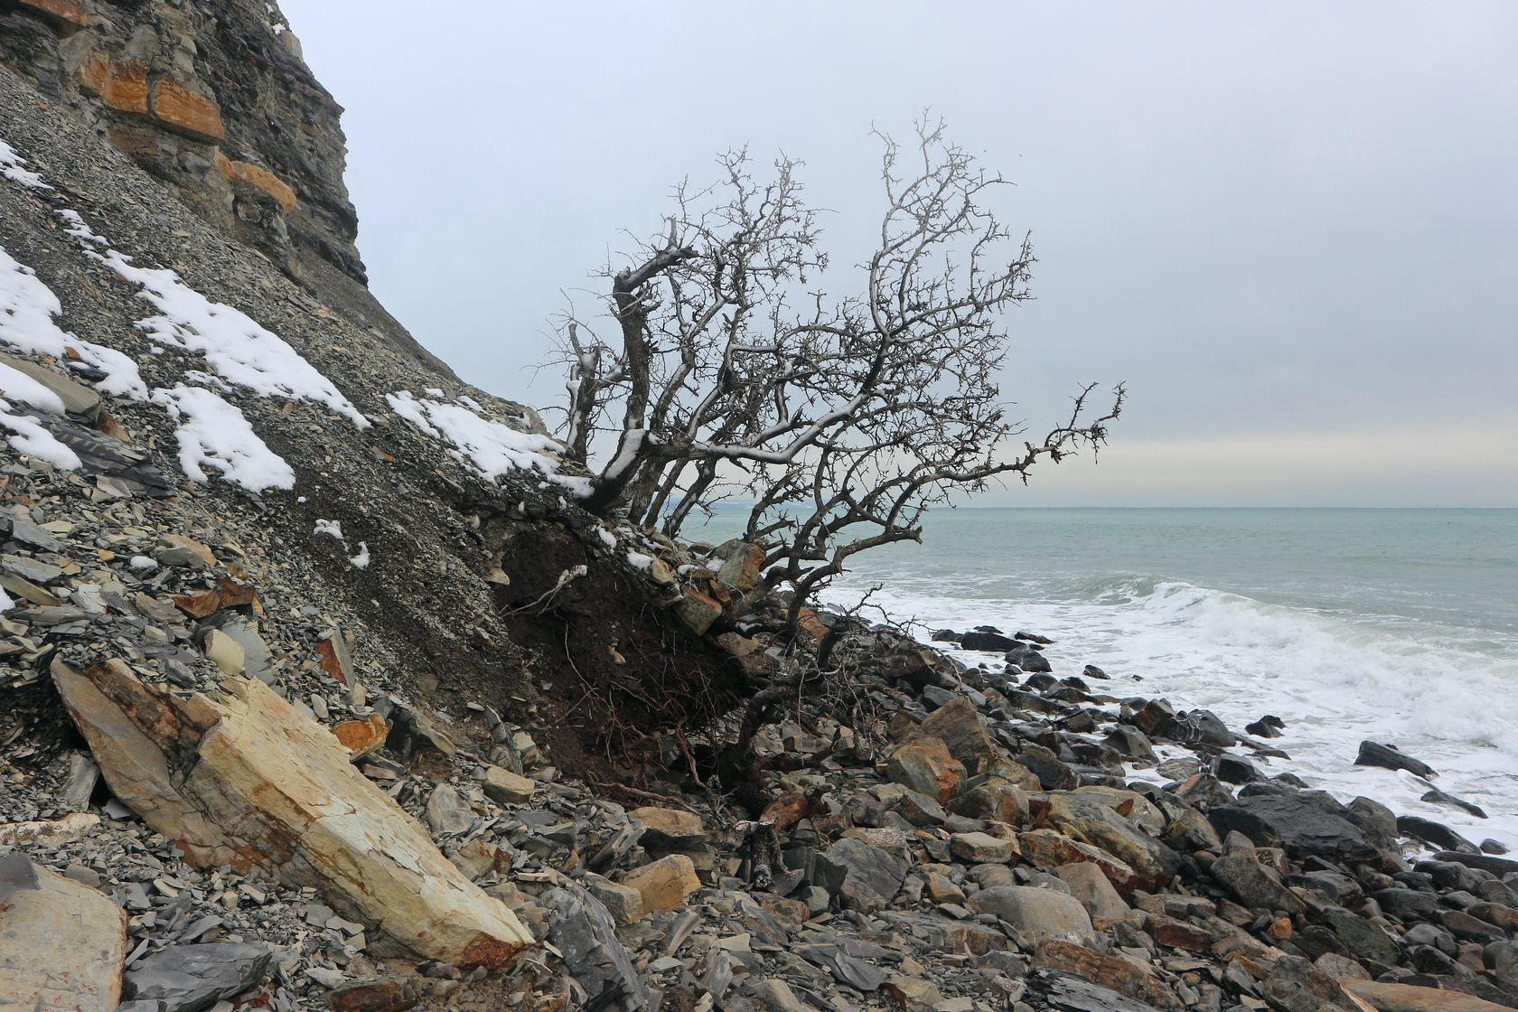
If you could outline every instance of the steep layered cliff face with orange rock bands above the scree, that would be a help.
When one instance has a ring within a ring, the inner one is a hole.
[[[12,0],[0,62],[294,278],[363,284],[342,108],[264,0]]]

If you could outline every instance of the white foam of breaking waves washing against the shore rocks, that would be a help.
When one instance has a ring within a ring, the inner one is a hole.
[[[839,587],[832,596],[853,602],[859,595]],[[1512,654],[1462,649],[1433,630],[1280,607],[1186,583],[1093,586],[1084,602],[953,598],[893,592],[888,584],[873,601],[897,619],[915,619],[924,639],[935,628],[982,624],[1050,636],[1055,674],[1076,675],[1084,665],[1098,665],[1113,677],[1093,683],[1099,692],[1207,707],[1236,730],[1274,713],[1286,733],[1271,745],[1290,759],[1251,756],[1264,772],[1293,772],[1343,800],[1365,795],[1475,842],[1494,838],[1518,850]],[[999,663],[994,654],[958,657]],[[1422,759],[1439,772],[1433,786],[1482,806],[1489,818],[1421,801],[1428,784],[1407,772],[1354,766],[1365,739]]]

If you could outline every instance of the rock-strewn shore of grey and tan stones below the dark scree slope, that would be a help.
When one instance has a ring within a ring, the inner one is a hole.
[[[767,715],[765,812],[679,765],[594,787],[499,699],[360,680],[361,645],[102,473],[5,469],[0,994],[46,951],[39,994],[134,1012],[1518,1007],[1518,862],[1264,777],[1237,750],[1269,719],[1060,677],[1032,634],[953,636],[1003,654],[970,668],[823,614],[853,701]],[[788,652],[718,639],[759,683]]]

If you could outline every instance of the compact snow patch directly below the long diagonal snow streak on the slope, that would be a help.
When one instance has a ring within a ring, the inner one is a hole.
[[[213,391],[178,384],[153,390],[153,404],[179,422],[179,466],[191,481],[209,481],[205,469],[214,467],[247,492],[294,487],[290,464],[258,438],[241,411]]]

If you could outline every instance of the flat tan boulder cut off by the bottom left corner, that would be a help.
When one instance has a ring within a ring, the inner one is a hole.
[[[0,1009],[111,1012],[124,960],[126,910],[24,854],[0,856]]]

